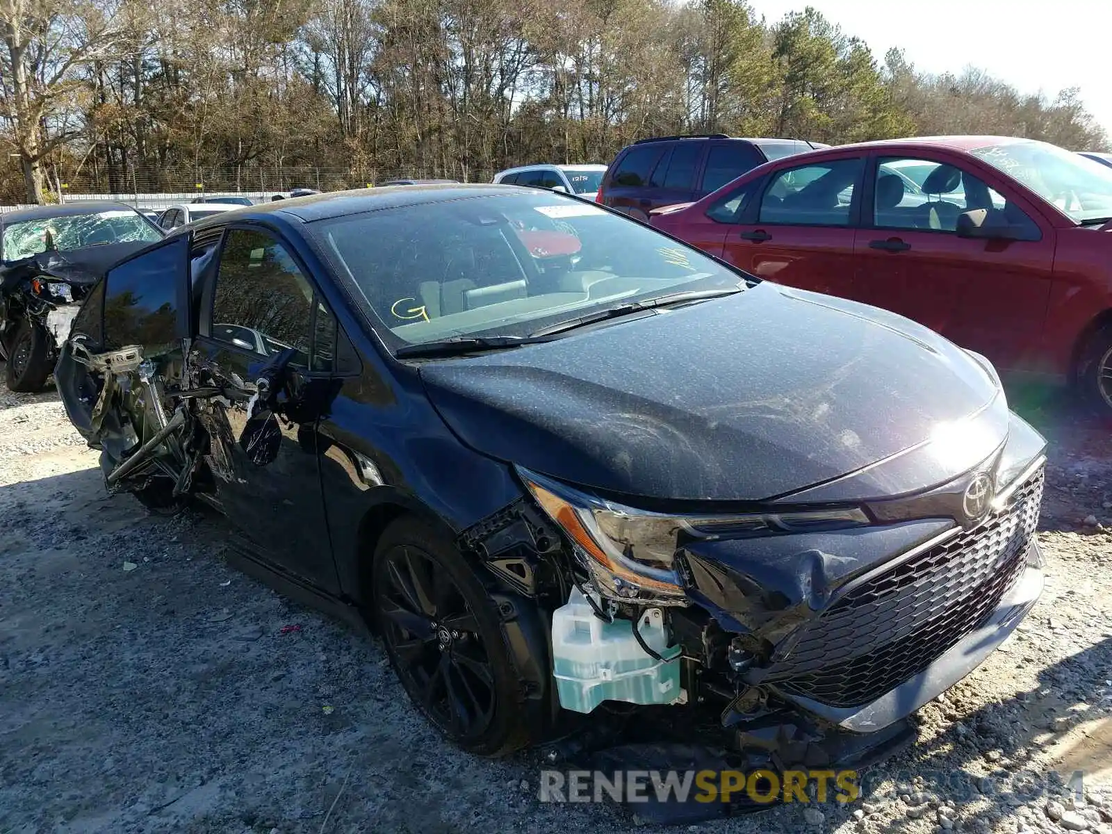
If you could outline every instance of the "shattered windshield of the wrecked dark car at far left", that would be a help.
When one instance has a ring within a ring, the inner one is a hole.
[[[44,252],[48,248],[70,251],[105,244],[161,239],[158,229],[137,211],[111,209],[4,224],[2,249],[4,260],[19,260]]]

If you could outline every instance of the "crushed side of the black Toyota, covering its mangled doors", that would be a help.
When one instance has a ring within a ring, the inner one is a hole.
[[[112,267],[56,378],[70,420],[101,450],[109,490],[167,512],[198,495],[239,528],[254,562],[338,593],[316,443],[338,386],[335,320],[307,274],[288,271],[281,244],[260,237],[171,236]],[[214,321],[214,308],[226,318]]]

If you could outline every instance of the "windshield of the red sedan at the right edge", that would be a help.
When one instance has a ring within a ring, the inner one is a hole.
[[[1112,217],[1112,168],[1046,142],[989,145],[972,151],[1078,222]]]

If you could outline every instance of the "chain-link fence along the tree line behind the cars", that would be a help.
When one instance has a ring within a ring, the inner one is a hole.
[[[396,179],[453,179],[460,182],[489,182],[494,170],[445,171],[421,168],[374,168],[353,171],[347,168],[315,166],[280,168],[159,168],[120,171],[85,169],[67,173],[49,171],[43,182],[49,202],[77,200],[116,200],[141,209],[163,209],[199,197],[237,195],[266,201],[294,188],[341,191],[373,188]],[[26,208],[26,205],[0,206],[0,212]]]

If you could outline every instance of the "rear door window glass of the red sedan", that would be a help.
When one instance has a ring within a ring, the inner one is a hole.
[[[837,159],[777,171],[761,200],[761,222],[848,226],[861,159]]]

